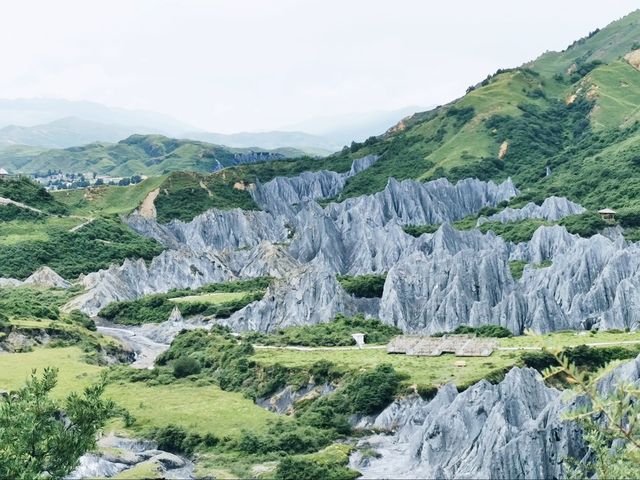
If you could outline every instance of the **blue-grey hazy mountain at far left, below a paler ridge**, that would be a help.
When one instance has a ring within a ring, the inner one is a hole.
[[[108,125],[78,117],[67,117],[32,127],[8,125],[1,128],[0,147],[25,145],[44,148],[67,148],[91,142],[117,142],[134,133],[152,132],[144,127]]]

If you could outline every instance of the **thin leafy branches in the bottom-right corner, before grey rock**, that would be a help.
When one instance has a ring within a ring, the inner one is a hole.
[[[584,430],[593,462],[567,462],[568,476],[573,478],[637,478],[640,464],[640,389],[630,383],[618,382],[613,391],[601,386],[601,375],[589,377],[580,372],[563,354],[556,353],[559,366],[544,372],[545,379],[562,376],[586,406],[567,415]],[[572,464],[573,463],[573,464]]]

